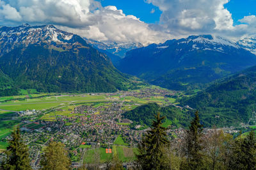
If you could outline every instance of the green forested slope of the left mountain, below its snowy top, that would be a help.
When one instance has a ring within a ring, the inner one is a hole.
[[[112,92],[124,88],[124,75],[108,57],[89,46],[72,48],[49,49],[37,45],[16,48],[0,58],[0,67],[23,89]]]

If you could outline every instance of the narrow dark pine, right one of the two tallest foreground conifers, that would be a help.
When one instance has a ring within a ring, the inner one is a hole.
[[[184,153],[186,162],[182,162],[181,169],[202,169],[202,135],[203,125],[200,124],[198,111],[195,112],[195,118],[186,133]]]

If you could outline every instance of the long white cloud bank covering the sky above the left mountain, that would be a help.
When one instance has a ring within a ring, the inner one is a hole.
[[[116,6],[102,7],[93,0],[0,0],[0,24],[54,24],[86,38],[143,44],[163,42],[170,35],[154,31]],[[1,22],[2,20],[2,22]]]

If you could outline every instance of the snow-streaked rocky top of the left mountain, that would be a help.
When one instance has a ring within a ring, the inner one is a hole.
[[[15,47],[28,46],[29,44],[50,45],[52,42],[67,44],[74,35],[61,31],[52,25],[30,26],[22,24],[17,27],[0,26],[0,52],[10,52]],[[1,55],[0,55],[1,56]]]

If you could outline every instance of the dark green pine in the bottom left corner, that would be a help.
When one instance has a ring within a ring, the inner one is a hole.
[[[20,137],[19,128],[12,132],[11,137],[12,139],[10,139],[9,146],[5,151],[6,158],[1,164],[2,169],[31,169],[29,166],[28,147]]]

